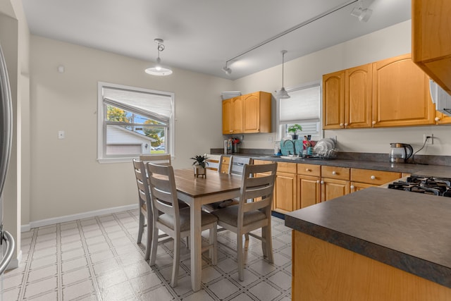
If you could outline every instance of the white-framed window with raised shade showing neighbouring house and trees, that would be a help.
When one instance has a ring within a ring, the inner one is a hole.
[[[171,154],[173,93],[99,82],[97,159]]]

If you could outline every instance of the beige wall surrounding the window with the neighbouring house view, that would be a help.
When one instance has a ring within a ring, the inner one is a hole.
[[[220,94],[232,89],[230,80],[180,69],[147,75],[151,62],[43,37],[30,45],[30,221],[137,204],[131,162],[97,162],[99,81],[175,93],[175,168],[222,144]]]

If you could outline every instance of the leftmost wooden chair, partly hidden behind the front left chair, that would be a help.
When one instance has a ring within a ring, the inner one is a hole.
[[[144,227],[147,227],[146,250],[144,260],[149,260],[150,245],[152,242],[152,203],[150,200],[149,185],[147,184],[146,170],[143,161],[133,159],[133,169],[138,188],[138,202],[140,205],[140,221],[137,243],[140,244]]]

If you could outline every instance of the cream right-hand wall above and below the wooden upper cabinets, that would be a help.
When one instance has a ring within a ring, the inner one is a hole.
[[[290,51],[290,49],[288,49]],[[285,88],[305,82],[320,81],[323,74],[359,66],[391,56],[411,52],[411,21],[406,21],[369,35],[317,51],[285,63]],[[263,90],[276,94],[281,85],[281,66],[269,68],[235,80],[235,90],[249,93]],[[273,118],[275,120],[275,118]],[[434,134],[434,145],[428,145],[418,154],[451,155],[450,125],[409,128],[378,128],[360,130],[326,130],[326,137],[337,137],[343,152],[388,153],[390,142],[412,144],[414,151],[423,145],[423,134]],[[269,138],[276,134],[245,135],[242,147],[272,149]]]

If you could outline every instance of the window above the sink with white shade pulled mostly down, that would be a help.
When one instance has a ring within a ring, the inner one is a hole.
[[[321,85],[314,83],[287,91],[290,98],[278,101],[278,140],[288,136],[288,126],[294,123],[302,126],[301,137],[321,139]]]

